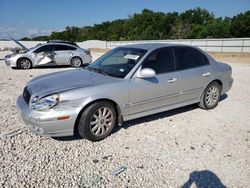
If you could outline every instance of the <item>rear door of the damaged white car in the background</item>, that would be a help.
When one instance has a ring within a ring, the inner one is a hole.
[[[69,46],[56,44],[54,45],[55,52],[55,62],[58,65],[68,65],[69,58],[71,56],[72,51],[69,49]]]

